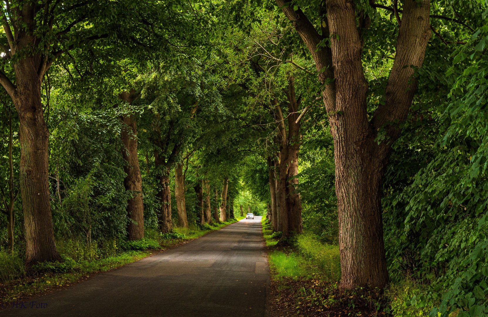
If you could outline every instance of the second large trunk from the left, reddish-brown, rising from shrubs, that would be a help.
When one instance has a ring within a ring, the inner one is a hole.
[[[119,97],[129,105],[137,98],[134,97],[134,91],[123,92]],[[127,238],[129,240],[139,240],[144,237],[144,204],[142,203],[142,177],[139,168],[139,158],[137,155],[137,126],[133,114],[124,114],[122,116],[121,137],[124,148],[122,148],[122,157],[127,162],[124,166],[125,178],[123,181],[125,190],[132,194],[127,205],[127,215],[129,223],[127,226]]]

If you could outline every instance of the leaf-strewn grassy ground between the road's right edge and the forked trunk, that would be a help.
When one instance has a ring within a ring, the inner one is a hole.
[[[300,245],[276,247],[279,236],[264,221],[263,233],[268,249],[271,288],[267,298],[268,317],[358,317],[392,316],[389,299],[379,289],[338,288],[338,254],[330,248],[334,262],[321,265],[306,257]],[[302,251],[302,252],[301,252]],[[340,271],[339,271],[340,273]]]

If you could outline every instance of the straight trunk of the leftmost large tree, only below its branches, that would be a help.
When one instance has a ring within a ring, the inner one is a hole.
[[[49,131],[41,104],[41,81],[34,57],[16,63],[17,89],[12,98],[19,113],[20,192],[24,212],[25,265],[61,260],[54,241],[48,184]]]

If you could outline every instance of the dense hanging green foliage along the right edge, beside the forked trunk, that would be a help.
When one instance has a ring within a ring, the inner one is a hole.
[[[446,77],[431,78],[449,100],[414,106],[393,146],[383,205],[390,275],[430,284],[405,301],[430,316],[486,316],[487,160],[486,69],[482,27],[452,53]],[[481,40],[481,42],[480,42]],[[427,89],[428,90],[428,89]],[[411,309],[411,308],[408,308]]]

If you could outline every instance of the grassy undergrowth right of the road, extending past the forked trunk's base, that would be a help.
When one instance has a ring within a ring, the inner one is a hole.
[[[281,232],[273,232],[264,217],[263,234],[275,284],[274,305],[279,314],[285,310],[285,316],[430,317],[432,307],[440,304],[421,303],[421,295],[429,291],[429,285],[408,277],[384,290],[361,287],[341,290],[338,246],[323,244],[313,234],[304,232],[290,239],[289,247],[277,248]],[[458,313],[455,311],[449,317],[457,317]]]

